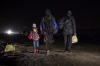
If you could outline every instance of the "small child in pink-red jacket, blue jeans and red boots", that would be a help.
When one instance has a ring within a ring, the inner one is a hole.
[[[39,34],[38,34],[38,30],[36,28],[36,24],[33,24],[33,31],[30,33],[30,35],[28,36],[29,39],[33,40],[33,45],[34,45],[34,53],[38,53],[38,48],[39,48]]]

